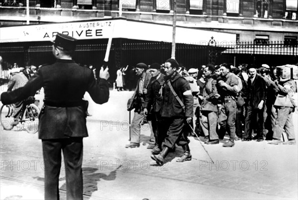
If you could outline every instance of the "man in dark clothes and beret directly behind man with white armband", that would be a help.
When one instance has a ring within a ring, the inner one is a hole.
[[[152,78],[150,79],[148,91],[146,95],[146,101],[144,104],[144,115],[147,116],[148,110],[151,110],[151,123],[152,130],[151,133],[154,133],[156,144],[152,149],[153,154],[158,154],[161,151],[161,137],[158,137],[158,128],[159,128],[159,110],[160,110],[160,88],[161,83],[164,80],[164,75],[160,73],[160,65],[158,63],[153,63],[150,65],[150,73]],[[152,106],[152,107],[151,107]]]

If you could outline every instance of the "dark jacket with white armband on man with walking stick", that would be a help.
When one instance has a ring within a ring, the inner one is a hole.
[[[160,116],[173,118],[193,117],[194,98],[191,94],[188,81],[177,72],[175,72],[174,76],[169,81],[177,96],[185,105],[185,112],[178,100],[174,97],[166,81],[162,89],[163,100],[161,101]]]

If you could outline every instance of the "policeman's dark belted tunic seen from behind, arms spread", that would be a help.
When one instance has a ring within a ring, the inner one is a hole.
[[[100,79],[96,84],[90,69],[79,66],[73,60],[57,60],[54,64],[41,66],[24,87],[2,93],[1,101],[3,104],[10,104],[24,100],[42,87],[45,102],[71,105],[81,101],[85,92],[99,104],[109,99],[106,80]],[[69,136],[88,136],[84,107],[45,105],[39,115],[39,138],[56,139]]]

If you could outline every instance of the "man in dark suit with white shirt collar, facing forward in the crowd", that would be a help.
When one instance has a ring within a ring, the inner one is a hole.
[[[260,75],[257,74],[254,65],[248,66],[249,79],[248,97],[247,97],[247,112],[245,118],[244,141],[252,139],[252,129],[254,122],[256,122],[257,135],[253,138],[257,142],[263,141],[263,123],[264,123],[264,106],[266,100],[266,83]],[[255,121],[256,120],[256,121]]]

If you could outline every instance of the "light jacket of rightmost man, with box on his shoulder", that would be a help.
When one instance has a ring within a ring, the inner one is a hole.
[[[289,80],[286,82],[279,82],[277,86],[278,86],[278,95],[274,102],[274,105],[294,107],[290,98],[294,95],[296,91],[296,83],[293,80]]]

